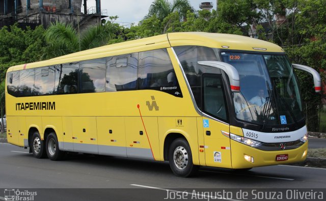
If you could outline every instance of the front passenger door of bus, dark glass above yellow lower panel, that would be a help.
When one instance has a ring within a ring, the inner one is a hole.
[[[230,126],[222,76],[203,74],[204,152],[207,166],[231,167]],[[211,118],[208,118],[211,117]]]

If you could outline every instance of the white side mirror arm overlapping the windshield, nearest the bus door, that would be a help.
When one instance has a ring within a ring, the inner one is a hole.
[[[223,70],[229,76],[232,92],[240,92],[239,73],[232,65],[217,61],[202,61],[198,62],[198,64]]]

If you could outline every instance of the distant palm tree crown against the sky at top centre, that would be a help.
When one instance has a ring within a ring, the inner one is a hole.
[[[170,13],[178,12],[180,19],[184,20],[188,10],[194,12],[194,9],[189,4],[188,0],[173,0],[172,3],[168,0],[155,0],[149,7],[145,19],[156,15],[158,19],[163,20]]]

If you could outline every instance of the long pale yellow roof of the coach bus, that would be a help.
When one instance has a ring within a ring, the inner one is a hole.
[[[276,44],[245,36],[204,32],[181,32],[162,34],[159,36],[126,41],[112,45],[105,45],[102,47],[59,56],[58,58],[53,58],[46,61],[30,63],[28,65],[22,64],[13,66],[10,67],[8,71],[90,60],[103,58],[105,56],[183,45],[198,45],[212,48],[260,52],[284,52],[283,49]]]

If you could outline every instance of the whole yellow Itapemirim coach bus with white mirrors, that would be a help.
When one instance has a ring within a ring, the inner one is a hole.
[[[250,169],[305,160],[293,69],[273,43],[169,33],[10,67],[7,137],[36,158],[65,152]]]

